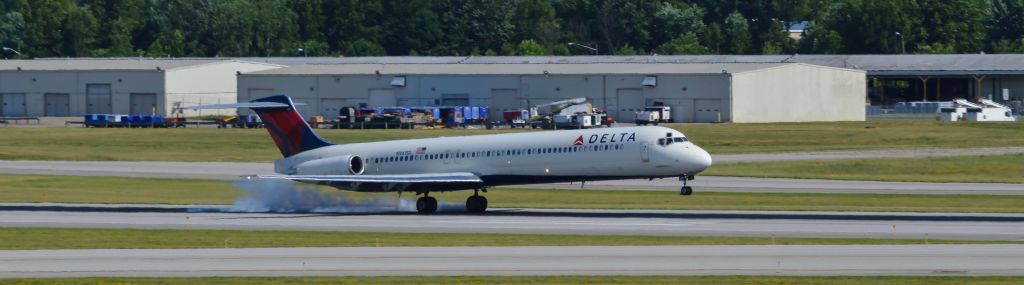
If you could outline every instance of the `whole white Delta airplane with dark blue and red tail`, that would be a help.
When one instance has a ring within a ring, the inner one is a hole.
[[[357,192],[415,192],[420,213],[437,211],[431,192],[473,190],[466,210],[483,212],[487,188],[629,178],[686,180],[712,164],[675,129],[645,126],[402,139],[335,145],[309,127],[285,95],[195,109],[250,108],[284,159],[281,175],[258,175]]]

